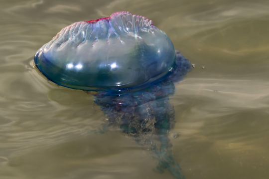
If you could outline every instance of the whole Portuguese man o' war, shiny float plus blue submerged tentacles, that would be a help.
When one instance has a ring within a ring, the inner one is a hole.
[[[175,125],[169,96],[191,65],[151,20],[121,11],[75,22],[43,45],[34,63],[48,80],[95,97],[107,120],[92,132],[130,136],[151,151],[156,172],[184,179],[168,138]]]

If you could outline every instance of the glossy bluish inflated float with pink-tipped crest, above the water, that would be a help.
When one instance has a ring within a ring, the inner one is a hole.
[[[166,33],[127,11],[75,22],[34,56],[40,72],[58,85],[119,93],[166,78],[176,68],[175,59]]]

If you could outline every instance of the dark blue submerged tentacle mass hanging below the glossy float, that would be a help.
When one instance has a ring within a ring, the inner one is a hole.
[[[176,54],[176,65],[163,81],[124,95],[103,91],[93,96],[106,115],[106,129],[120,131],[141,147],[149,149],[158,161],[154,171],[163,173],[167,169],[176,179],[185,179],[174,159],[168,138],[169,131],[175,125],[174,109],[169,104],[169,96],[175,92],[173,82],[182,80],[182,76],[190,70],[189,61],[179,52],[176,51]]]

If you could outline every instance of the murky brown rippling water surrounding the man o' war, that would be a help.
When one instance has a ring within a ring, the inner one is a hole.
[[[93,97],[30,67],[63,27],[122,10],[195,64],[170,100],[186,179],[269,179],[268,0],[1,0],[0,179],[173,179],[122,133],[89,133],[103,119]]]

